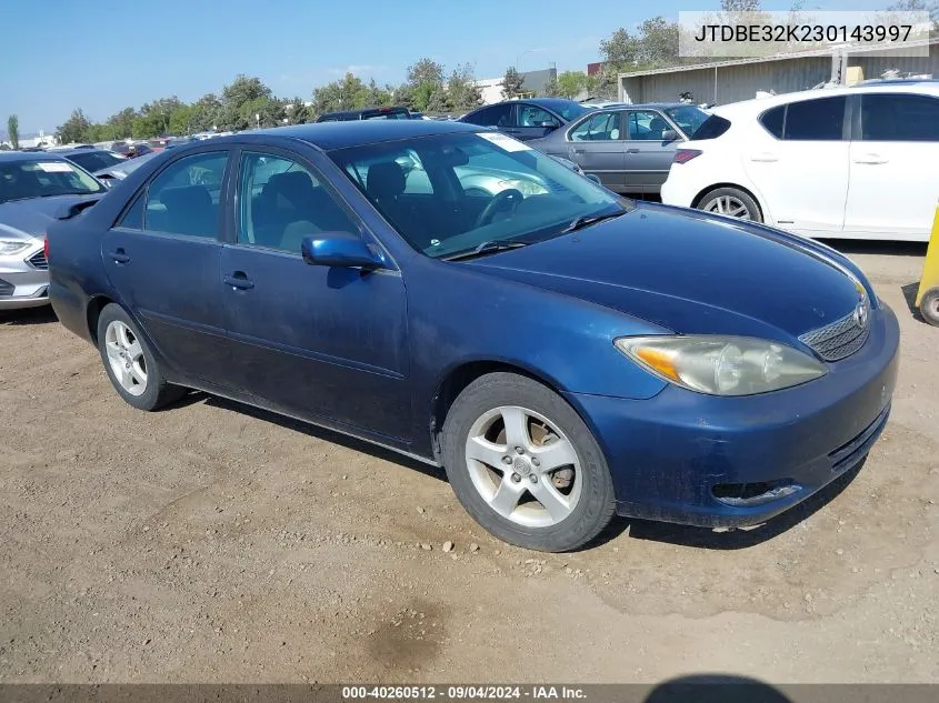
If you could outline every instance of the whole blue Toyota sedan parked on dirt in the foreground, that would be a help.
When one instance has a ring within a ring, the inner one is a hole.
[[[200,389],[362,438],[536,550],[615,513],[763,522],[863,460],[897,374],[846,257],[462,123],[179,147],[47,244],[59,319],[134,408]]]

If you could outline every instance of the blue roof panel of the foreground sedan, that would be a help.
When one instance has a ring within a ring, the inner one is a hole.
[[[304,141],[323,151],[362,147],[399,139],[449,134],[454,132],[482,132],[483,129],[463,122],[437,120],[357,120],[352,122],[317,122],[251,130],[231,137],[217,137],[212,144],[244,141],[264,142],[270,137]]]

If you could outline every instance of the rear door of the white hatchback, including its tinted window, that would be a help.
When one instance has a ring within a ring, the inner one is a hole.
[[[783,229],[841,235],[850,148],[847,102],[833,96],[771,108],[741,144],[743,168]]]

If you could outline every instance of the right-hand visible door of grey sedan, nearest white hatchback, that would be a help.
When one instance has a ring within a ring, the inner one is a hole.
[[[672,125],[657,110],[626,113],[623,168],[626,189],[632,193],[658,193],[675,158],[676,140],[666,140]]]

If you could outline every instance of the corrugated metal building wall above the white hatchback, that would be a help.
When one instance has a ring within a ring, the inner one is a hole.
[[[939,51],[936,46],[931,47],[930,53],[928,58],[855,54],[848,64],[860,66],[866,79],[879,78],[889,69],[939,76]],[[695,102],[726,104],[755,98],[759,90],[773,90],[777,93],[807,90],[830,78],[831,57],[792,58],[623,78],[620,99],[631,102],[671,102],[677,101],[681,93],[691,91]]]

